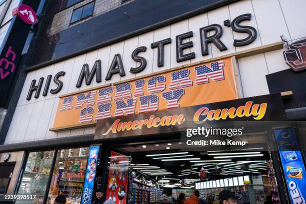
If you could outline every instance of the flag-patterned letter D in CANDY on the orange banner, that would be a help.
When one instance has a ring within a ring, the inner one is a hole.
[[[155,94],[143,95],[139,97],[140,107],[139,113],[153,112],[158,109],[158,96]]]

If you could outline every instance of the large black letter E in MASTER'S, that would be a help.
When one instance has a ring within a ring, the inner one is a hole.
[[[183,49],[189,48],[193,46],[192,41],[188,41],[183,43],[182,40],[188,37],[192,37],[193,33],[192,31],[177,35],[176,38],[176,61],[184,61],[187,59],[193,59],[195,57],[194,52],[183,54]]]

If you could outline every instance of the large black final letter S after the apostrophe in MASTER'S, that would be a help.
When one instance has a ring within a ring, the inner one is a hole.
[[[235,17],[231,21],[230,26],[233,31],[244,32],[248,34],[248,36],[245,37],[244,39],[234,39],[234,42],[233,42],[234,46],[244,46],[244,45],[252,43],[256,39],[257,31],[254,27],[246,26],[246,25],[239,25],[239,23],[243,20],[250,20],[250,17],[251,17],[250,13],[245,13],[245,14]]]

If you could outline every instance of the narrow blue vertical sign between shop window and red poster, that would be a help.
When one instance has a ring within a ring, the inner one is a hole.
[[[90,146],[81,204],[91,203],[99,146]]]

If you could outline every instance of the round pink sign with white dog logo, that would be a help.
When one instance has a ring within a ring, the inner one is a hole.
[[[37,20],[35,11],[26,4],[20,4],[18,7],[14,8],[12,15],[16,14],[28,24],[34,24]]]

